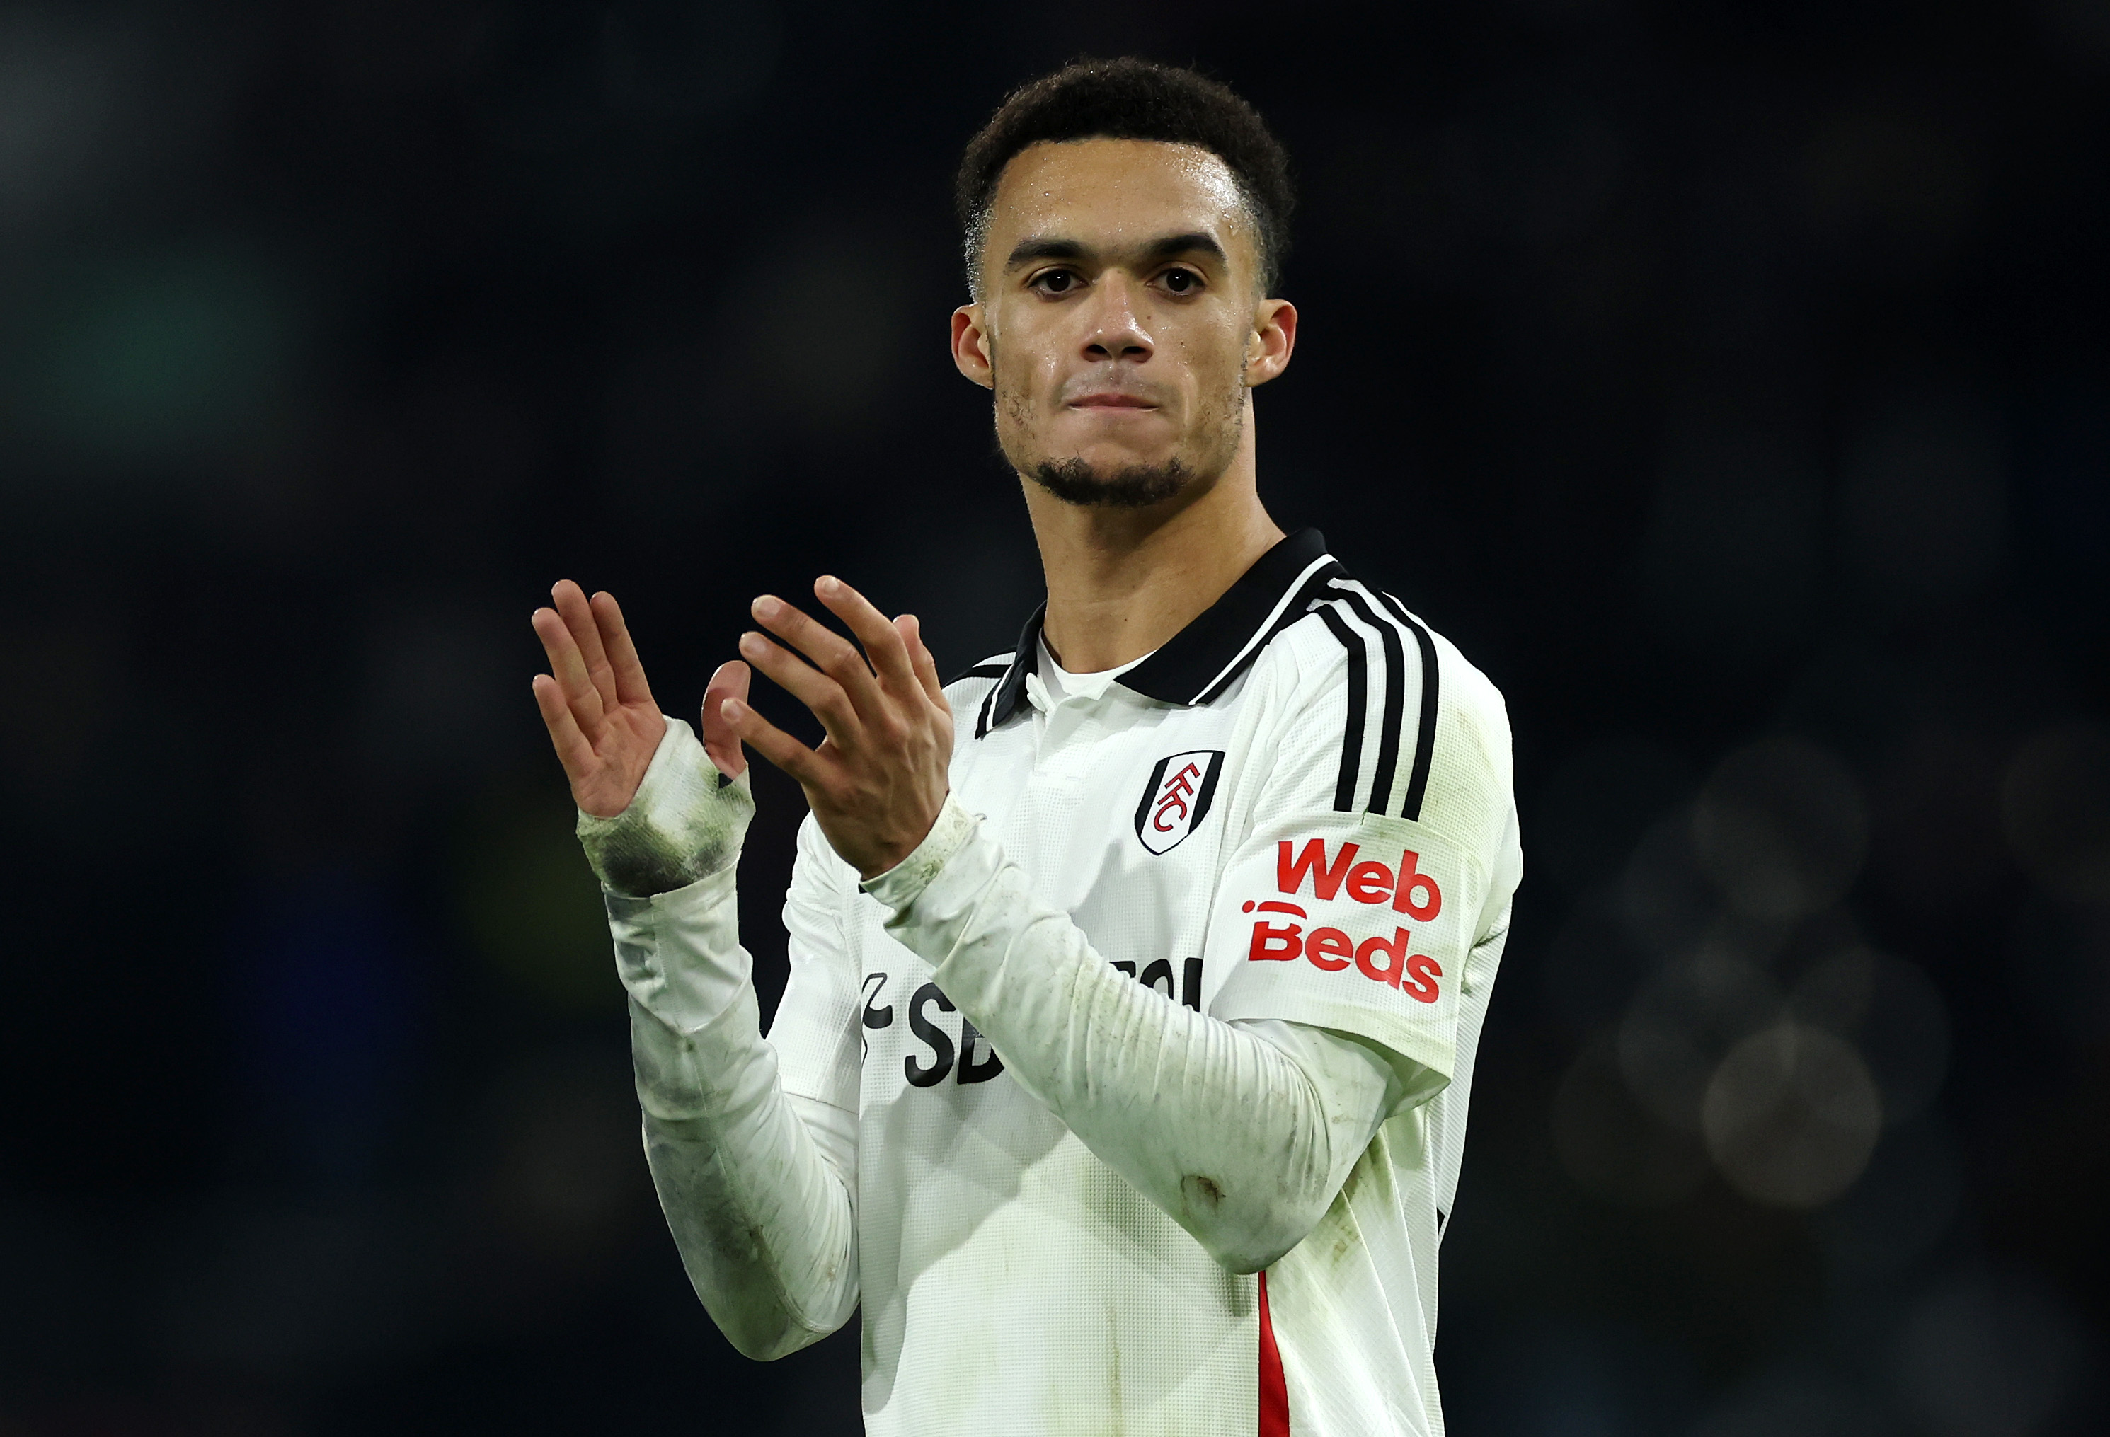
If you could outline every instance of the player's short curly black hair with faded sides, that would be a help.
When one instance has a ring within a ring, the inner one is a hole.
[[[1011,91],[966,143],[954,203],[966,241],[966,285],[981,293],[981,247],[996,181],[1028,146],[1063,139],[1163,139],[1209,150],[1230,169],[1260,234],[1260,281],[1270,291],[1289,253],[1289,154],[1226,84],[1148,59],[1078,59]]]

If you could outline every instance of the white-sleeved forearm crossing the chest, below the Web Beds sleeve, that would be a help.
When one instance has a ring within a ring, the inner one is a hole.
[[[867,884],[1004,1070],[1232,1270],[1304,1239],[1399,1093],[1357,1040],[1226,1023],[1116,973],[947,808]],[[954,825],[947,834],[945,825]],[[922,867],[918,867],[918,863]]]

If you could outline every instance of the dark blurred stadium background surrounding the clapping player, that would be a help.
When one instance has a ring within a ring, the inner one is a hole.
[[[1452,1431],[2110,1431],[2110,4],[224,0],[0,6],[0,1433],[855,1431],[660,1224],[528,614],[1011,646],[947,181],[1080,51],[1289,143],[1262,492],[1509,696]]]

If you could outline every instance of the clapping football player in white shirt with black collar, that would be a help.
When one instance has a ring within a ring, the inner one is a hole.
[[[952,357],[1049,593],[1017,652],[941,686],[916,618],[821,578],[857,644],[755,599],[774,641],[717,669],[698,741],[610,595],[534,616],[690,1279],[751,1357],[863,1308],[871,1433],[1443,1426],[1437,1245],[1521,874],[1509,728],[1260,504],[1285,175],[1236,95],[1129,59],[1023,87],[968,146]],[[755,669],[817,749],[747,705]],[[812,808],[766,1038],[749,749]]]

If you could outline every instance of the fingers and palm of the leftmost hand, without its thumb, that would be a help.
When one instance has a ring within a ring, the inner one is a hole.
[[[551,589],[551,601],[555,608],[534,614],[551,669],[534,679],[536,705],[572,781],[572,800],[610,819],[637,793],[667,720],[652,701],[614,595],[589,601],[578,585],[563,580]]]

